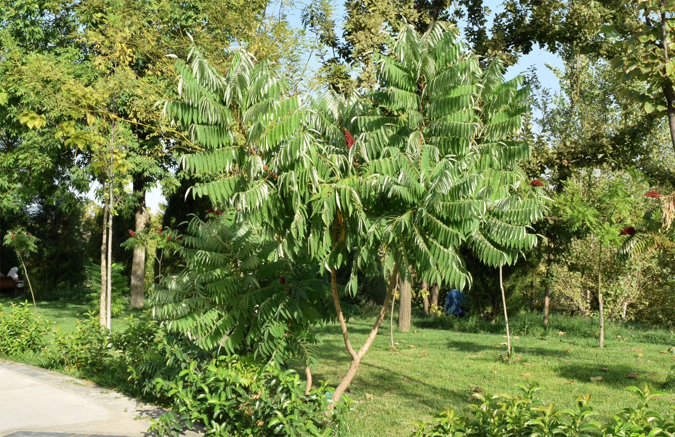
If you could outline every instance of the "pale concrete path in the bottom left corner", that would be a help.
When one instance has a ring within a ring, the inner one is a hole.
[[[92,382],[0,360],[0,436],[147,437],[149,419],[164,411]]]

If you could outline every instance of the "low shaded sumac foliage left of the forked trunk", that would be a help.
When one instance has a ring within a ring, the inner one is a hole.
[[[232,214],[194,217],[180,238],[184,270],[155,290],[169,331],[205,349],[252,353],[275,365],[311,361],[311,328],[329,319],[325,283],[315,269],[275,260],[275,245]]]

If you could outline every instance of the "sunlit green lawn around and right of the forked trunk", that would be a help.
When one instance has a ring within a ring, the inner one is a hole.
[[[365,340],[374,317],[354,318],[349,329],[352,344]],[[338,326],[328,326],[319,346],[315,380],[333,386],[347,370],[348,354]],[[448,330],[412,328],[394,331],[396,352],[389,351],[389,325],[377,335],[350,386],[352,399],[359,401],[349,420],[352,437],[408,436],[407,421],[429,419],[445,407],[466,414],[471,389],[514,392],[517,382],[537,382],[545,390],[540,398],[556,405],[574,407],[577,396],[591,394],[592,405],[609,419],[621,407],[634,405],[634,395],[625,386],[648,382],[660,388],[675,355],[661,353],[673,344],[645,344],[607,338],[605,349],[589,338],[520,337],[512,340],[515,364],[500,361],[506,352],[505,336],[464,334]],[[675,343],[675,338],[674,338]],[[601,370],[608,367],[608,371]],[[626,374],[639,374],[627,378]],[[603,381],[591,382],[591,376]],[[675,405],[675,393],[659,399],[653,409],[666,413]]]

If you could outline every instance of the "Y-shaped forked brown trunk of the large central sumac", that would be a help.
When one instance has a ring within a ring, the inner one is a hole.
[[[340,384],[338,384],[338,386],[335,387],[333,396],[331,396],[332,401],[334,402],[340,401],[340,398],[342,397],[344,390],[347,389],[350,382],[352,382],[354,375],[356,375],[356,368],[358,367],[358,363],[361,362],[361,358],[371,347],[373,340],[375,340],[377,330],[382,324],[382,321],[387,313],[387,307],[389,307],[389,299],[391,299],[391,292],[392,290],[394,290],[394,286],[396,286],[397,281],[398,281],[398,265],[394,264],[394,269],[392,269],[391,277],[389,278],[389,286],[387,286],[387,295],[385,296],[384,303],[382,304],[379,314],[377,315],[375,325],[373,326],[373,329],[371,330],[370,334],[368,334],[368,337],[361,346],[361,349],[359,349],[358,352],[356,352],[352,347],[352,342],[350,342],[349,340],[349,334],[347,332],[347,324],[344,320],[344,315],[342,315],[342,308],[340,307],[340,297],[338,297],[338,279],[335,274],[335,269],[334,268],[331,269],[331,294],[333,294],[333,305],[335,305],[335,313],[337,313],[338,315],[338,323],[340,324],[340,330],[342,330],[342,338],[344,340],[344,346],[347,349],[347,352],[349,353],[350,357],[352,357],[352,362],[349,365],[347,373],[340,381]],[[335,404],[331,404],[331,408],[333,408],[334,405]]]

